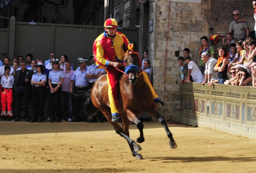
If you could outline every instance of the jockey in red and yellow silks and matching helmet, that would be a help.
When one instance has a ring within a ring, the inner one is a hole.
[[[109,18],[104,23],[105,32],[97,37],[93,44],[93,54],[97,68],[106,68],[107,83],[109,84],[109,102],[112,114],[112,122],[116,122],[119,115],[118,112],[118,77],[122,73],[116,68],[123,65],[124,50],[123,44],[128,46],[129,41],[124,34],[117,32],[118,24],[115,19]],[[103,67],[102,67],[103,66]],[[146,75],[145,75],[146,76]],[[155,93],[149,78],[144,77],[153,94],[154,101],[157,106],[163,106],[165,103],[161,101]]]

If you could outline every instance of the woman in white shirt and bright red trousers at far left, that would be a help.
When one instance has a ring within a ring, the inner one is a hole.
[[[1,85],[3,85],[2,93],[1,93],[1,103],[2,103],[2,121],[10,121],[12,120],[12,104],[13,104],[13,83],[14,77],[10,75],[11,67],[4,67],[5,75],[1,78]],[[7,114],[6,114],[7,108]]]

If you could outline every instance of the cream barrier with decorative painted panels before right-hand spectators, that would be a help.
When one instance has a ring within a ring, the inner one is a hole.
[[[184,84],[180,122],[256,138],[256,87]]]

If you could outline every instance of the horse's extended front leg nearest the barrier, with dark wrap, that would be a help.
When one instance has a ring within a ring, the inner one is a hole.
[[[170,141],[169,141],[169,147],[170,147],[170,148],[173,148],[173,149],[177,148],[176,142],[174,141],[174,139],[173,139],[173,137],[172,137],[172,133],[171,133],[171,131],[169,130],[169,128],[168,128],[168,126],[167,126],[167,124],[166,124],[166,121],[165,121],[164,117],[159,114],[159,112],[158,112],[158,110],[157,110],[157,107],[154,106],[154,107],[152,108],[152,110],[149,111],[149,112],[147,112],[147,113],[148,113],[149,115],[153,116],[154,118],[157,118],[157,119],[159,120],[159,122],[163,125],[163,127],[164,127],[164,129],[165,129],[165,131],[166,131],[166,133],[167,133],[167,136],[168,136],[168,138],[170,139]]]

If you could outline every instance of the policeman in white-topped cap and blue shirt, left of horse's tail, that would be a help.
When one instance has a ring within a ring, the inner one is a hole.
[[[70,83],[70,93],[74,94],[80,94],[80,92],[84,92],[88,90],[88,79],[86,77],[86,61],[87,59],[78,58],[79,61],[79,69],[76,69],[74,75],[71,77],[71,83]],[[73,85],[75,83],[75,87],[73,90]],[[81,109],[81,102],[84,102],[85,98],[84,96],[74,96],[74,119],[72,122],[79,122],[80,121],[80,109]],[[87,115],[82,115],[82,120],[84,122],[88,122]]]

